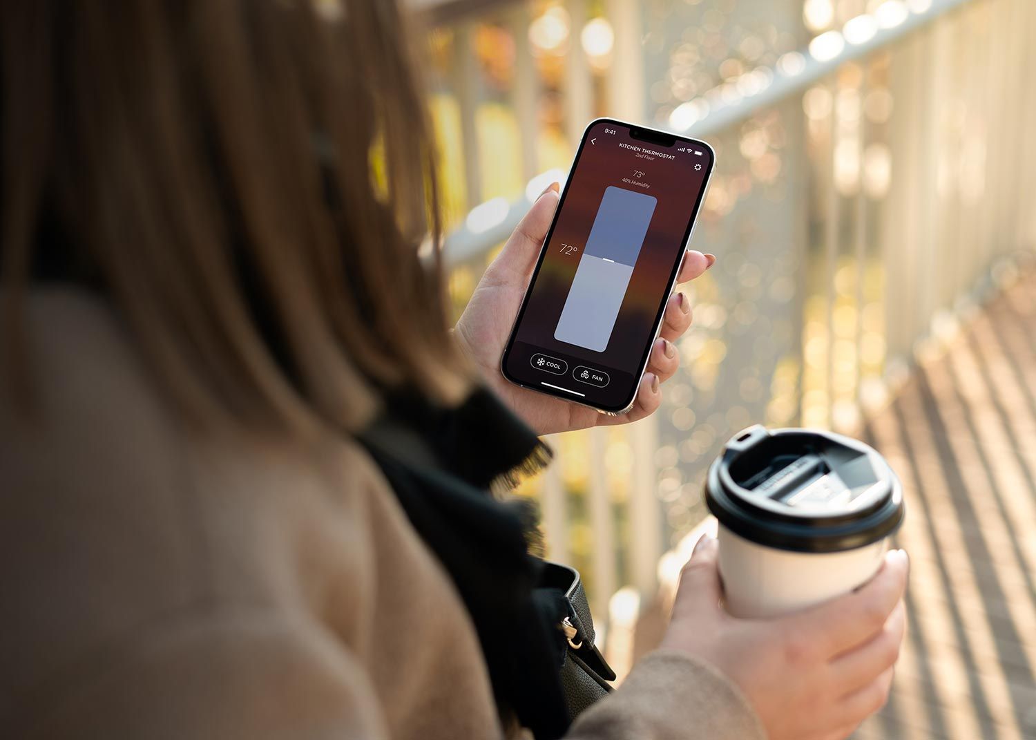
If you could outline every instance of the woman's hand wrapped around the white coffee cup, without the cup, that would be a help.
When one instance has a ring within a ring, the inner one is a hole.
[[[663,647],[738,684],[769,740],[842,740],[881,709],[906,624],[905,552],[889,552],[856,592],[772,620],[723,609],[716,553],[716,541],[702,538],[684,567]]]

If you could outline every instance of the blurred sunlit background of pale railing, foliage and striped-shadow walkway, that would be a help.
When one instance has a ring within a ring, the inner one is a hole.
[[[859,737],[1036,737],[1036,4],[411,5],[458,313],[594,117],[718,154],[692,247],[719,259],[690,287],[662,408],[551,437],[555,464],[520,491],[620,672],[657,639],[724,442],[824,427],[897,465],[924,595],[893,700]]]

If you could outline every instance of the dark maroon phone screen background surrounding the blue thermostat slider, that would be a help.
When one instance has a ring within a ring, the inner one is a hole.
[[[606,129],[615,133],[607,134]],[[591,143],[592,139],[596,139],[595,144]],[[621,144],[638,147],[641,151],[624,148]],[[702,153],[698,156],[691,151],[678,151],[684,146]],[[674,159],[648,159],[652,156],[651,151],[671,154]],[[695,169],[695,165],[700,169]],[[607,408],[629,400],[636,380],[634,373],[640,369],[660,305],[668,296],[665,291],[669,277],[675,261],[683,255],[684,237],[711,167],[712,151],[708,147],[679,139],[672,146],[662,146],[632,138],[629,129],[621,124],[602,121],[593,125],[570,174],[556,222],[548,235],[546,255],[534,277],[525,311],[505,361],[512,377],[530,386],[539,386],[545,380],[584,393],[585,398],[573,396],[574,400]],[[635,171],[644,174],[636,176]],[[624,182],[624,178],[632,182]],[[554,329],[598,206],[609,186],[654,196],[658,202],[607,347],[603,352],[596,352],[555,340]],[[575,246],[578,251],[568,254],[563,244]],[[568,372],[565,375],[544,374],[534,368],[529,360],[538,351],[564,360],[568,363]],[[607,372],[610,376],[607,387],[597,389],[574,381],[571,373],[579,365]]]

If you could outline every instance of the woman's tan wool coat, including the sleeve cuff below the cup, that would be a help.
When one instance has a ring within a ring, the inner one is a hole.
[[[0,400],[0,736],[501,736],[464,607],[359,448],[193,439],[103,305],[37,291],[29,322],[40,421]],[[660,651],[569,737],[764,733]]]

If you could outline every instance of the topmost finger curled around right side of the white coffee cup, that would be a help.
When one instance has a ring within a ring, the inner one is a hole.
[[[829,658],[867,642],[885,628],[906,588],[910,563],[902,550],[892,550],[877,574],[852,594],[788,617],[793,629],[814,634]]]

